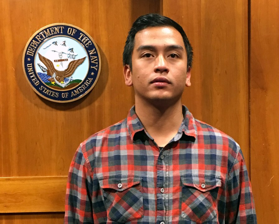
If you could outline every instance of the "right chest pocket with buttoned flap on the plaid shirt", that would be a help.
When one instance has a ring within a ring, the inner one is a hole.
[[[217,215],[221,178],[214,175],[181,176],[181,217],[196,223],[212,221]]]

